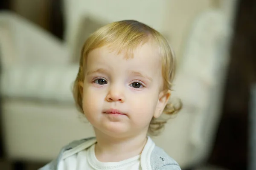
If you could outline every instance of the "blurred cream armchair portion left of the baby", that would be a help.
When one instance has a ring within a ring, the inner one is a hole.
[[[0,52],[1,123],[9,159],[49,161],[61,145],[93,135],[77,119],[71,83],[78,68],[64,42],[1,12]]]

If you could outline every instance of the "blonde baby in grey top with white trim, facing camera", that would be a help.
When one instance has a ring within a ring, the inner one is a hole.
[[[165,38],[135,20],[99,28],[84,43],[73,87],[96,137],[71,142],[41,170],[180,170],[148,133],[160,132],[175,58]]]

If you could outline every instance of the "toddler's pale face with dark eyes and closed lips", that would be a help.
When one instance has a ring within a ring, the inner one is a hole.
[[[96,133],[111,136],[147,132],[152,117],[164,108],[161,58],[145,43],[125,58],[107,47],[87,56],[83,110]]]

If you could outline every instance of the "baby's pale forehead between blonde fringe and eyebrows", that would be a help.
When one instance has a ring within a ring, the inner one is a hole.
[[[108,47],[93,50],[87,59],[87,69],[95,70],[99,68],[114,69],[119,71],[143,71],[151,72],[161,69],[162,60],[155,48],[150,44],[144,44],[136,48],[133,53],[121,53],[110,50]]]

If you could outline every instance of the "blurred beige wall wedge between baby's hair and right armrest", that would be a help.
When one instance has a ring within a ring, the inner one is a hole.
[[[179,60],[193,20],[201,12],[213,7],[214,0],[166,0],[165,2],[166,13],[163,16],[161,31],[172,44]]]

